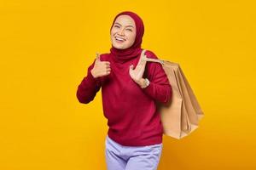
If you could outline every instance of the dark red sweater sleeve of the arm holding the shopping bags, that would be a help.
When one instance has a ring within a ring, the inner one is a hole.
[[[146,52],[148,58],[158,59],[153,52]],[[161,103],[167,103],[172,97],[172,86],[166,76],[166,72],[160,63],[147,61],[147,78],[149,85],[142,88],[145,94],[148,94],[154,100]]]

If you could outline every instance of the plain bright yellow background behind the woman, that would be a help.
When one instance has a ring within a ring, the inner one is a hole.
[[[143,48],[182,66],[205,113],[188,137],[164,136],[159,169],[256,169],[247,0],[1,1],[0,169],[106,169],[101,91],[82,105],[76,90],[123,10],[143,18]]]

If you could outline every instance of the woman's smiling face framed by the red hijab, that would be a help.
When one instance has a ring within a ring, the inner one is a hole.
[[[136,26],[129,15],[122,14],[114,21],[110,31],[111,42],[114,48],[130,48],[135,42]]]

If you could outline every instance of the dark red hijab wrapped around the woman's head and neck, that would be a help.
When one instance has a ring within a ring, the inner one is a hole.
[[[113,59],[117,62],[123,63],[129,59],[137,57],[139,54],[142,53],[143,49],[141,48],[141,45],[143,42],[144,25],[143,25],[143,20],[137,14],[131,11],[124,11],[115,16],[112,26],[110,28],[110,31],[113,27],[115,20],[121,14],[127,14],[131,16],[131,18],[134,20],[136,25],[135,41],[133,42],[130,48],[118,49],[118,48],[114,48],[113,45],[112,45],[112,48],[110,48],[110,54],[113,56]]]

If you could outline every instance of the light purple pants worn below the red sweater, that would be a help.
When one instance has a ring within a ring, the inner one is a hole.
[[[156,170],[163,144],[124,146],[107,135],[105,156],[108,170]]]

